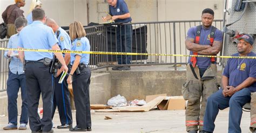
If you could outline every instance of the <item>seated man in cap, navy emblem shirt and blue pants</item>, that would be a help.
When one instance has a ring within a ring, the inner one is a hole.
[[[245,34],[238,38],[238,53],[232,56],[256,56],[253,52],[254,38]],[[204,132],[213,132],[214,121],[219,109],[230,107],[228,132],[241,132],[242,106],[251,100],[251,92],[256,91],[256,60],[250,58],[230,58],[223,72],[223,88],[212,94],[206,105]]]

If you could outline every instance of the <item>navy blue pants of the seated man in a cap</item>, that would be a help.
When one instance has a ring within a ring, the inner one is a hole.
[[[213,132],[215,128],[214,121],[219,109],[223,110],[230,107],[228,132],[241,132],[242,106],[251,101],[251,91],[248,88],[243,88],[235,92],[231,97],[224,97],[222,92],[223,90],[221,89],[207,99],[203,130]]]

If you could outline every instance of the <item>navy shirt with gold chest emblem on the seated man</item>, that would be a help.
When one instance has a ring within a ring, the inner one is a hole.
[[[232,56],[238,56],[234,54]],[[256,56],[253,52],[247,56]],[[239,66],[239,68],[238,68]],[[256,60],[247,58],[230,58],[224,69],[223,76],[228,77],[228,86],[237,87],[248,77],[256,78]],[[256,91],[256,83],[247,87],[251,92]]]

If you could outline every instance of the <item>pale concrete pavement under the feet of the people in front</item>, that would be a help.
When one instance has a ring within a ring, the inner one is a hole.
[[[185,110],[151,110],[150,112],[134,113],[98,113],[92,112],[92,133],[93,132],[186,132]],[[73,112],[73,119],[75,119]],[[104,120],[109,116],[111,120]],[[30,129],[5,131],[3,127],[7,124],[8,117],[0,117],[0,132],[31,132]],[[54,126],[60,124],[58,113],[53,119]],[[73,125],[76,125],[74,120]],[[250,113],[242,114],[242,132],[250,132]],[[221,110],[215,122],[217,133],[227,132],[228,129],[228,109]],[[70,132],[67,129],[54,129],[55,132]]]

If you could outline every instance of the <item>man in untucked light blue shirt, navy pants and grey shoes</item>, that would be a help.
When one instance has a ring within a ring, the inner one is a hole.
[[[17,42],[19,39],[19,32],[23,27],[27,25],[27,21],[24,17],[18,17],[15,20],[15,27],[18,34],[12,35],[8,42],[8,48],[17,48]],[[9,124],[4,127],[4,130],[17,129],[17,98],[19,87],[21,87],[22,95],[22,113],[20,119],[19,130],[25,130],[26,124],[28,124],[28,102],[27,102],[27,91],[26,91],[26,77],[23,72],[23,63],[19,60],[18,51],[6,50],[4,56],[10,60],[9,64],[9,75],[7,80],[7,95],[8,95],[8,122]],[[15,55],[15,56],[14,56]]]

